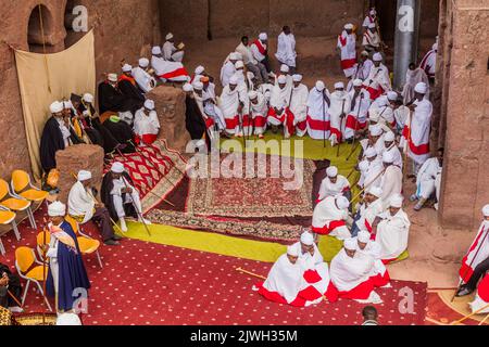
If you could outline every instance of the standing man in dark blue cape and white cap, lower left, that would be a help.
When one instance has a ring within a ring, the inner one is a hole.
[[[49,297],[55,297],[57,311],[71,312],[75,308],[79,291],[88,291],[90,281],[77,236],[72,226],[64,220],[66,206],[60,202],[52,203],[48,206],[48,216],[51,241],[46,254],[49,258],[46,291]]]

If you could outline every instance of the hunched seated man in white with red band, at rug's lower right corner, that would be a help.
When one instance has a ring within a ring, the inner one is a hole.
[[[349,208],[350,202],[342,195],[326,197],[314,209],[312,231],[322,235],[335,236],[338,240],[351,237],[347,227],[347,222],[352,221]]]

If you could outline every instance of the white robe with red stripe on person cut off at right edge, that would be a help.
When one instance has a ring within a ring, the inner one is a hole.
[[[478,253],[477,253],[478,250]],[[477,254],[477,256],[476,256]],[[479,231],[468,248],[467,255],[462,260],[459,271],[460,278],[467,283],[474,274],[475,268],[489,257],[489,220],[482,221]]]

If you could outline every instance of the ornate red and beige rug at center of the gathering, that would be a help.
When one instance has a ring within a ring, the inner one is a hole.
[[[259,158],[254,156],[254,165],[251,164],[254,174],[247,175],[247,178],[242,175],[237,175],[237,178],[229,178],[231,175],[223,177],[223,167],[228,167],[229,162],[233,162],[229,156],[221,158],[221,166],[210,163],[208,172],[212,174],[211,177],[190,181],[186,213],[205,217],[311,217],[314,163],[305,159],[301,160],[303,165],[296,165],[291,162],[287,167],[297,172],[294,178],[287,178],[281,174],[283,158],[266,156],[266,167]],[[235,166],[242,165],[242,170],[238,169],[237,172],[249,172],[248,163],[237,162]],[[231,168],[234,171],[235,166]]]

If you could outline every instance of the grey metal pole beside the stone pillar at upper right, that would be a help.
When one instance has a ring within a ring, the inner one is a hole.
[[[416,62],[421,0],[398,0],[393,87],[401,89],[411,63]]]

